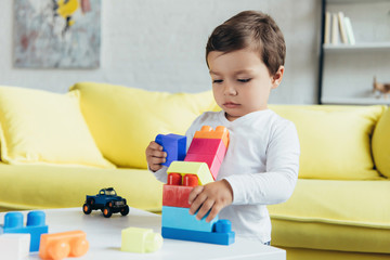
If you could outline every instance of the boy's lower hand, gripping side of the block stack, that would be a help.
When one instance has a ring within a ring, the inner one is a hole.
[[[222,208],[232,204],[233,190],[226,180],[208,183],[204,186],[195,186],[190,193],[188,203],[191,204],[190,213],[196,214],[196,219],[200,220],[207,214],[206,221],[210,222],[221,211]]]

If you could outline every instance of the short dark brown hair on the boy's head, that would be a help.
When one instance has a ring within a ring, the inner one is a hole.
[[[286,43],[280,27],[270,15],[257,11],[240,12],[218,26],[208,39],[206,62],[212,51],[227,53],[248,47],[259,53],[270,75],[285,63]]]

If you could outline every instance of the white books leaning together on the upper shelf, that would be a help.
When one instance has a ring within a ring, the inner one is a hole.
[[[342,12],[326,12],[324,26],[324,44],[355,44],[351,20]]]

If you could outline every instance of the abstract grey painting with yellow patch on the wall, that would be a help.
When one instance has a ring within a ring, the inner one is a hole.
[[[14,66],[98,68],[101,0],[14,0]]]

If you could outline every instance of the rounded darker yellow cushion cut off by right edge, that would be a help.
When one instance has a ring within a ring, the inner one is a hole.
[[[390,109],[384,113],[375,128],[373,155],[379,172],[390,178]]]

